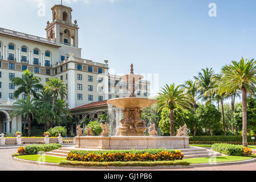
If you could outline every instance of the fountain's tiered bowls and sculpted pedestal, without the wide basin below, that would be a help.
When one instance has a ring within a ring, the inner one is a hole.
[[[121,80],[128,82],[129,96],[125,98],[114,98],[108,100],[108,104],[123,109],[124,119],[121,119],[121,127],[117,130],[116,136],[144,136],[147,130],[145,121],[141,120],[141,109],[157,103],[157,100],[149,98],[137,98],[135,93],[135,82],[143,79],[141,75],[134,75],[133,64],[131,73],[121,76]]]

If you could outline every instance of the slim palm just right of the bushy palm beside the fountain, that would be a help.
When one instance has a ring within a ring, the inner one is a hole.
[[[198,97],[198,85],[197,81],[187,80],[185,84],[182,85],[182,88],[186,90],[188,94],[189,102],[193,105],[194,114],[196,114],[196,102]],[[196,136],[197,132],[197,123],[194,123],[194,136]]]

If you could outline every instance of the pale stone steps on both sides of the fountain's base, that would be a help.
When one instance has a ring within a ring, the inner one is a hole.
[[[66,158],[68,152],[70,152],[71,150],[96,150],[96,149],[65,147],[65,148],[59,148],[58,150],[52,150],[51,152],[46,152],[45,154],[50,156],[58,156],[58,157]],[[201,148],[201,147],[189,147],[189,148],[181,148],[181,149],[174,149],[174,150],[180,150],[184,155],[184,159],[204,158],[204,157],[213,157],[213,156],[222,155],[220,153],[214,152],[212,150],[208,150],[206,148]]]

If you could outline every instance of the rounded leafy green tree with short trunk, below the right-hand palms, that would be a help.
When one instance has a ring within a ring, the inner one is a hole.
[[[200,126],[209,129],[210,135],[213,135],[213,129],[218,129],[221,126],[221,113],[212,104],[200,105],[196,110],[196,118]]]

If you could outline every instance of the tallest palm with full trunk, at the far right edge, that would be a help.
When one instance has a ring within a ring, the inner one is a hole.
[[[220,94],[229,94],[235,89],[242,91],[243,146],[247,146],[247,93],[255,93],[256,62],[254,59],[232,61],[222,68]]]

